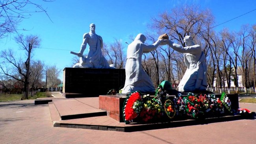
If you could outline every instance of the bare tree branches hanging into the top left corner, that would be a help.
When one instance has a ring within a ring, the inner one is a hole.
[[[53,2],[54,0],[41,0],[43,2]],[[32,10],[27,10],[32,7]],[[46,9],[40,4],[31,0],[1,0],[0,1],[0,39],[6,37],[9,33],[18,33],[17,26],[23,19],[31,17],[32,13],[43,12]],[[24,29],[23,29],[24,30]]]

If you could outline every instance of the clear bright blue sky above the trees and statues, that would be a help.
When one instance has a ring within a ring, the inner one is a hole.
[[[38,35],[41,39],[41,46],[34,51],[32,59],[44,61],[46,65],[56,65],[60,70],[72,66],[74,55],[70,54],[70,50],[80,50],[83,33],[89,32],[91,23],[96,24],[96,33],[106,43],[115,39],[130,42],[131,35],[148,31],[147,24],[150,24],[152,17],[185,4],[210,9],[216,25],[256,9],[255,0],[56,0],[41,4],[53,22],[45,13],[33,13],[32,17],[24,19],[19,25],[20,29],[28,31],[20,33]],[[255,17],[256,11],[252,11],[215,27],[215,30],[228,28],[239,31],[244,24],[256,24]],[[12,48],[19,53],[14,36],[0,39],[0,50]],[[88,49],[84,54],[86,52]],[[59,78],[62,80],[62,77],[61,72]]]

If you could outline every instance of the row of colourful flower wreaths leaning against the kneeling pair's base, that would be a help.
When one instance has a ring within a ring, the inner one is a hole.
[[[169,96],[166,90],[159,87],[156,95],[150,97],[140,92],[130,93],[123,107],[123,119],[126,124],[130,122],[150,122],[158,120],[173,120],[181,116],[201,119],[206,115],[215,114],[248,114],[247,109],[231,109],[231,102],[223,92],[220,98],[214,94],[195,95],[189,92],[182,98],[177,94],[174,98]]]

